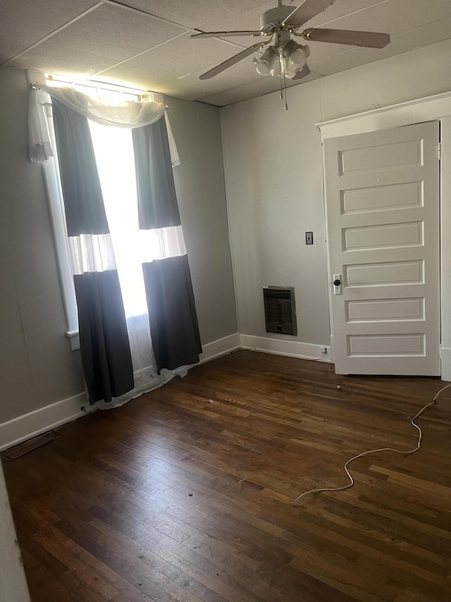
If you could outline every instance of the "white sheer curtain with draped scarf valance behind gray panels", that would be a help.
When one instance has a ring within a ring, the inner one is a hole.
[[[51,92],[63,104],[89,119],[109,234],[67,236],[51,121],[51,99],[46,92]],[[46,107],[49,109],[47,114]],[[181,227],[145,231],[138,226],[131,128],[153,123],[163,114],[168,127],[172,164],[177,165],[180,159],[163,103],[118,103],[116,99],[93,99],[71,89],[49,88],[41,84],[39,87],[30,87],[29,156],[31,161],[44,164],[68,330],[76,330],[72,275],[117,269],[121,283],[135,388],[121,397],[113,398],[112,402],[94,404],[99,409],[120,406],[143,392],[167,383],[174,375],[187,373],[188,366],[175,371],[163,369],[160,375],[156,373],[142,275],[143,262],[186,253]]]

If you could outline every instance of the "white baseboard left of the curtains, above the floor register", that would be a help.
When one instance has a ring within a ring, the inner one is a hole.
[[[80,409],[82,406],[87,406],[87,411],[82,411]],[[0,423],[0,451],[41,433],[51,431],[52,428],[73,421],[80,416],[86,416],[87,413],[89,413],[89,404],[83,392],[2,422]]]

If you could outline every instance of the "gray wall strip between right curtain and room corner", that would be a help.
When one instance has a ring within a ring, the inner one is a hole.
[[[220,110],[166,97],[180,165],[174,168],[202,343],[237,332]]]

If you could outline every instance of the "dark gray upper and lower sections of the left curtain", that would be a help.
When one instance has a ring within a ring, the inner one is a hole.
[[[108,234],[87,119],[53,100],[58,163],[69,237]],[[133,388],[133,369],[116,270],[74,276],[80,352],[89,402]]]

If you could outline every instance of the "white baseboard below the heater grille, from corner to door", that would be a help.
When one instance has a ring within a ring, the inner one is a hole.
[[[252,335],[240,335],[240,339],[243,349],[255,349],[255,351],[264,351],[266,354],[314,359],[328,363],[331,361],[330,347],[328,345],[287,341],[285,339],[270,339],[269,337],[253,337]],[[326,353],[323,353],[323,349],[326,349]]]

